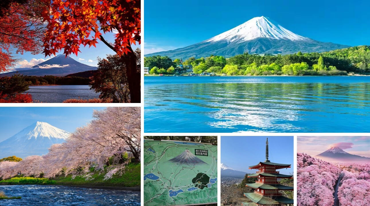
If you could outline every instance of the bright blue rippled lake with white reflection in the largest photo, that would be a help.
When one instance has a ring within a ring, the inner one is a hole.
[[[368,76],[145,76],[145,132],[370,132]]]

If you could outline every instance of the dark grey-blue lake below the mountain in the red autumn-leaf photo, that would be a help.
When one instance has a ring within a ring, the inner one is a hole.
[[[88,85],[58,85],[58,86],[29,86],[33,100],[46,103],[61,103],[66,99],[93,99],[99,94],[91,90]]]

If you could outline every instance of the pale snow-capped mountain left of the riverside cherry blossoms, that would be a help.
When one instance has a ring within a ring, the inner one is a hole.
[[[53,144],[64,143],[70,136],[67,131],[46,122],[37,121],[19,133],[0,143],[0,157],[16,155],[25,158],[30,155],[44,155]]]

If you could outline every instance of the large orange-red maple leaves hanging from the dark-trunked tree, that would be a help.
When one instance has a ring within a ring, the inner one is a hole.
[[[101,34],[117,31],[113,47],[117,55],[132,52],[140,43],[141,15],[138,0],[44,0],[48,22],[44,38],[45,55],[64,50],[65,55],[80,51],[80,45],[94,46],[105,41]],[[109,46],[109,45],[108,45]]]

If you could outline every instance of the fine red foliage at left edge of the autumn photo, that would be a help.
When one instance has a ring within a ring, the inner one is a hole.
[[[41,21],[41,9],[38,0],[8,1],[0,12],[0,72],[14,66],[17,59],[13,53],[41,51],[45,25]]]

